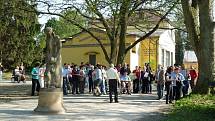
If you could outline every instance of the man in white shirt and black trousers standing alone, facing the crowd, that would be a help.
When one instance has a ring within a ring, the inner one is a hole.
[[[110,65],[110,69],[107,70],[107,79],[109,80],[109,98],[110,103],[113,102],[112,95],[114,94],[115,103],[118,103],[118,92],[117,92],[117,85],[120,84],[119,75],[117,70],[114,69],[114,65]]]

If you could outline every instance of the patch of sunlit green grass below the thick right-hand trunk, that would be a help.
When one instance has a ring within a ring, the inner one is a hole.
[[[181,99],[164,121],[215,121],[215,96],[191,95]]]

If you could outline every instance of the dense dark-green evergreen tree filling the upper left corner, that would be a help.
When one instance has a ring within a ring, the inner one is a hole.
[[[40,31],[37,14],[18,8],[35,9],[25,0],[0,1],[0,50],[5,67],[12,68],[23,62],[30,65],[40,58],[35,35]]]

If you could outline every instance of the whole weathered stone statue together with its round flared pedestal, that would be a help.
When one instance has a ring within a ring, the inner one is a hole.
[[[44,74],[45,88],[39,92],[36,113],[61,114],[66,109],[63,106],[61,42],[52,28],[46,28],[46,70]]]

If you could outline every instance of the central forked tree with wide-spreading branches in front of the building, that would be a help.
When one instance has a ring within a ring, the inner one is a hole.
[[[48,9],[47,11],[38,11],[38,13],[60,16],[80,28],[82,31],[88,32],[88,34],[100,44],[106,60],[109,63],[115,64],[123,63],[125,55],[131,48],[135,47],[136,44],[155,32],[159,28],[160,23],[165,20],[168,13],[175,7],[177,2],[178,0],[84,0],[83,2],[66,0],[61,4],[57,3],[58,5],[60,4],[60,7],[57,8],[56,3],[52,3],[49,0],[37,1],[41,6],[47,6]],[[61,9],[65,11],[68,9],[75,10],[76,14],[81,15],[89,23],[88,25],[81,25],[75,17],[66,17],[59,12],[51,11],[53,9]],[[152,18],[136,18],[135,14],[137,15],[137,12],[144,14],[150,13],[158,16],[160,19],[152,22],[152,20],[150,20]],[[101,26],[96,24],[98,22]],[[135,23],[141,23],[142,25],[151,23],[151,25],[147,29],[147,26],[142,29],[142,31],[146,33],[144,36],[140,37],[131,45],[126,46],[125,39],[127,27],[137,27],[137,24]],[[107,52],[100,38],[90,31],[92,25],[95,29],[105,30],[111,46],[110,53]]]

